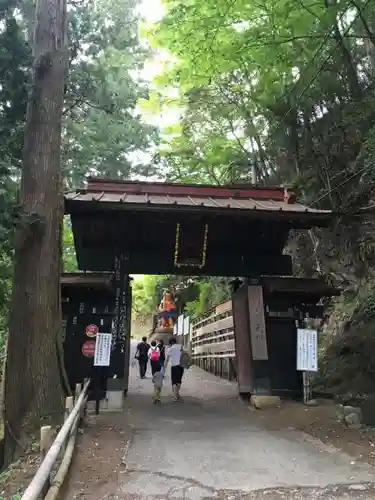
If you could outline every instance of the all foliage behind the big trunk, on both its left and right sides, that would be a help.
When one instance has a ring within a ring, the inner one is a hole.
[[[137,71],[147,51],[138,40],[137,0],[68,2],[70,70],[65,95],[62,162],[64,187],[87,175],[127,178],[152,173],[134,156],[157,140],[136,110],[147,100]],[[13,233],[22,164],[31,57],[30,2],[0,8],[0,352],[11,293]],[[133,157],[132,157],[133,155]],[[69,219],[64,221],[66,272],[77,270]]]

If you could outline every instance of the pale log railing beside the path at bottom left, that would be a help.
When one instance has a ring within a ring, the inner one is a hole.
[[[55,500],[57,498],[73,456],[78,424],[86,405],[89,385],[90,380],[86,380],[82,390],[81,384],[77,384],[75,401],[73,397],[66,398],[65,422],[51,446],[49,446],[51,427],[41,428],[40,449],[44,458],[21,500],[37,500],[38,498]],[[60,467],[51,483],[52,469],[62,453]]]

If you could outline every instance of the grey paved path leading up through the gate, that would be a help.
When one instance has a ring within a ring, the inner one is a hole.
[[[132,367],[120,421],[124,429],[130,424],[130,439],[124,445],[120,434],[129,434],[111,431],[123,449],[122,465],[102,493],[84,498],[375,498],[367,484],[375,481],[371,466],[300,432],[266,430],[232,383],[192,367],[183,402],[173,402],[169,378],[162,405],[152,404],[151,393],[150,376],[140,380]]]

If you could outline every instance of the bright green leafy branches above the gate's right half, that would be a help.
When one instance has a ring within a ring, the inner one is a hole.
[[[159,101],[167,106],[173,87],[182,111],[160,148],[168,176],[238,182],[254,170],[258,183],[292,183],[317,205],[354,202],[362,145],[365,158],[373,151],[372,4],[164,4],[150,29],[173,56],[156,82]]]

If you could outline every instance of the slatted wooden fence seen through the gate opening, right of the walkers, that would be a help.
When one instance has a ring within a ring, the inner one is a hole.
[[[228,380],[236,378],[231,300],[207,311],[192,323],[191,351],[200,368]]]

